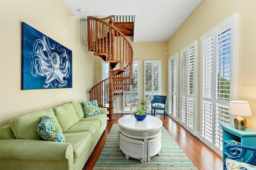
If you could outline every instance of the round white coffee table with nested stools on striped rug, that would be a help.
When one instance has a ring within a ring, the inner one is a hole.
[[[132,115],[126,115],[124,117],[121,117],[118,120],[118,124],[119,124],[119,131],[123,135],[129,138],[143,140],[144,162],[149,161],[152,155],[160,154],[161,138],[159,137],[159,135],[161,135],[161,127],[163,125],[160,119],[154,116],[147,115],[146,119],[144,119],[143,121],[137,121],[134,116],[132,117]],[[157,136],[158,138],[156,138]],[[148,139],[150,138],[156,139],[154,140],[153,144],[151,143],[148,144]],[[129,143],[128,141],[126,142]],[[132,144],[132,142],[129,145],[131,148],[126,148],[125,150],[126,152],[125,154],[127,155],[129,155],[129,151],[133,150],[132,146],[134,144]],[[151,151],[149,151],[150,146],[152,146]],[[131,157],[134,157],[134,156],[131,156]]]

